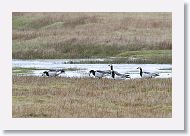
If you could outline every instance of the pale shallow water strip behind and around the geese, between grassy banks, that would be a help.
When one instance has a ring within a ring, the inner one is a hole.
[[[40,70],[33,70],[32,74],[22,73],[24,76],[41,76],[43,71],[47,69],[68,69],[74,68],[77,70],[66,70],[61,74],[62,77],[88,77],[90,70],[110,70],[108,64],[69,64],[68,62],[80,61],[104,61],[105,59],[54,59],[54,60],[16,60],[12,61],[12,67],[35,68]],[[143,71],[159,73],[157,78],[171,78],[172,65],[171,64],[113,64],[115,71],[119,73],[128,73],[131,78],[140,78],[137,67],[142,67]],[[44,70],[43,70],[44,69]],[[110,78],[110,77],[108,77]]]

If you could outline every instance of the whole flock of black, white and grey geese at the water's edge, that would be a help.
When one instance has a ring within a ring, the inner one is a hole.
[[[110,67],[110,70],[90,70],[89,71],[89,76],[94,77],[94,78],[102,78],[105,76],[111,76],[113,79],[126,79],[130,78],[129,74],[121,74],[115,70],[113,70],[113,65],[108,65]],[[158,73],[152,73],[152,72],[147,72],[143,71],[141,67],[138,67],[137,69],[140,70],[139,74],[142,78],[153,78],[156,76],[159,76]],[[48,71],[44,71],[42,76],[47,76],[47,77],[56,77],[59,76],[60,74],[65,73],[64,69],[50,69]]]

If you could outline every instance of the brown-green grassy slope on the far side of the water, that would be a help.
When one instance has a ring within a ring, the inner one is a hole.
[[[171,50],[171,17],[171,13],[13,13],[13,58],[117,57],[129,51]]]

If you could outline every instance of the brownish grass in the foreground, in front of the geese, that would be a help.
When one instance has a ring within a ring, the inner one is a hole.
[[[172,117],[171,79],[13,76],[13,117]]]

